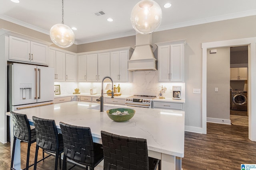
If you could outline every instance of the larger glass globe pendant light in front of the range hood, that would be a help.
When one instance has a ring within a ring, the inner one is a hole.
[[[162,21],[162,9],[153,0],[142,0],[132,9],[132,27],[141,34],[154,32]]]

